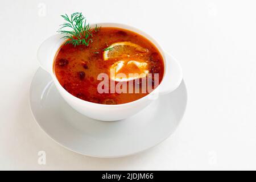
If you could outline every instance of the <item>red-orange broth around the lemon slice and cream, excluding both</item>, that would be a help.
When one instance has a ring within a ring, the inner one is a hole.
[[[118,42],[137,44],[143,50],[138,50],[133,55],[123,54],[104,60],[104,49]],[[144,51],[145,49],[146,51]],[[114,27],[102,27],[98,32],[93,31],[93,42],[89,46],[75,47],[72,44],[63,44],[56,53],[53,71],[63,88],[81,100],[98,104],[125,104],[146,96],[149,93],[148,90],[146,93],[98,92],[98,84],[102,81],[97,80],[98,75],[100,73],[109,75],[110,67],[120,60],[142,60],[147,63],[149,73],[159,74],[159,84],[162,81],[163,57],[154,44],[135,32]],[[127,73],[130,69],[122,70]],[[136,72],[136,68],[133,72]],[[135,86],[142,86],[141,78],[136,80],[139,81],[134,81],[134,89]],[[154,77],[152,82],[154,82]],[[118,81],[114,81],[114,84],[118,84]]]

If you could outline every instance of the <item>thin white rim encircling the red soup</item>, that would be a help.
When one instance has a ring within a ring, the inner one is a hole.
[[[162,81],[160,82],[158,87],[156,89],[154,89],[151,93],[147,94],[146,96],[144,96],[142,98],[139,98],[138,100],[127,102],[127,103],[124,103],[124,104],[115,104],[115,105],[99,104],[99,103],[94,103],[94,102],[89,102],[89,101],[81,100],[80,98],[78,98],[76,96],[73,96],[71,93],[69,93],[67,90],[65,90],[63,88],[63,86],[60,84],[59,80],[57,80],[57,77],[56,77],[56,75],[55,75],[55,73],[53,71],[53,67],[52,67],[51,75],[53,77],[53,81],[55,82],[55,84],[57,84],[57,87],[59,89],[61,89],[61,92],[67,94],[68,96],[71,96],[77,102],[84,103],[84,104],[91,105],[91,106],[97,106],[97,107],[117,108],[117,107],[121,107],[121,106],[129,106],[129,105],[137,104],[138,102],[142,102],[142,101],[144,101],[146,99],[147,100],[151,100],[151,101],[157,100],[158,97],[156,99],[148,99],[148,97],[152,96],[152,94],[155,94],[156,92],[158,92],[158,94],[160,94],[159,88],[162,88],[162,82],[163,82],[163,80],[164,80],[164,78],[166,76],[166,64],[167,64],[166,56],[165,56],[166,53],[164,52],[162,46],[160,46],[158,41],[153,36],[147,34],[145,31],[140,30],[137,27],[130,26],[128,24],[104,22],[104,23],[92,23],[92,24],[90,24],[90,27],[95,27],[96,24],[97,24],[97,26],[101,26],[101,27],[120,28],[120,29],[123,29],[123,30],[128,30],[128,31],[135,32],[135,33],[143,36],[144,38],[148,39],[152,44],[154,44],[154,46],[156,48],[158,48],[158,51],[161,53],[161,56],[163,57],[163,61],[164,61],[164,75],[163,75]],[[60,47],[63,45],[64,42],[65,42],[65,40],[63,39],[63,41],[61,41],[61,44],[58,46],[57,51],[54,50],[54,56],[53,56],[52,63],[54,63],[55,56],[57,55],[57,52],[59,51]]]

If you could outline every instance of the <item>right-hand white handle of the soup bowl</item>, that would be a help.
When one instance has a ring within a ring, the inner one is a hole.
[[[174,91],[182,81],[182,69],[177,60],[169,53],[166,56],[166,71],[164,78],[159,85],[159,93],[167,94]]]

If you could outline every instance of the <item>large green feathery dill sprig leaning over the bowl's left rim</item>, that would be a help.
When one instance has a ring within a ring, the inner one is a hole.
[[[88,46],[90,42],[92,42],[92,28],[89,23],[86,23],[86,19],[82,13],[73,13],[71,17],[67,14],[61,15],[66,21],[61,24],[59,32],[60,34],[64,34],[63,39],[68,39],[65,44],[73,44],[75,47],[79,45]],[[68,28],[69,30],[65,30]],[[96,25],[94,31],[100,31],[100,27]]]

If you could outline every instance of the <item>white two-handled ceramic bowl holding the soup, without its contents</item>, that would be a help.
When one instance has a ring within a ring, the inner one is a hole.
[[[53,72],[53,61],[56,52],[65,41],[61,39],[63,35],[53,35],[47,40],[45,40],[39,47],[38,60],[40,66],[52,76],[56,88],[57,90],[59,90],[61,96],[70,106],[73,107],[73,109],[93,119],[98,119],[101,121],[118,121],[121,119],[128,118],[131,115],[138,113],[138,111],[144,109],[144,107],[149,105],[154,99],[158,98],[158,94],[170,93],[180,85],[182,80],[182,71],[179,63],[177,63],[174,57],[164,52],[162,47],[158,44],[158,42],[156,42],[156,40],[152,38],[150,35],[146,34],[141,30],[138,30],[137,28],[127,26],[125,24],[97,23],[97,25],[101,27],[118,27],[133,32],[137,32],[138,34],[146,37],[153,44],[155,44],[155,46],[159,49],[160,53],[162,54],[164,60],[163,80],[162,82],[160,82],[159,86],[147,96],[126,104],[104,105],[81,100],[80,98],[77,98],[72,94],[68,93],[60,85],[59,81],[55,76],[55,73]],[[93,24],[91,26],[94,27]]]

